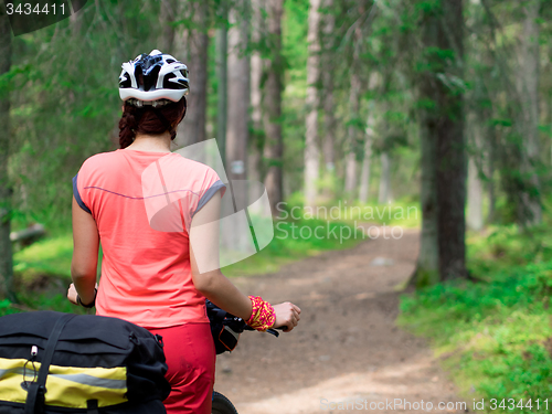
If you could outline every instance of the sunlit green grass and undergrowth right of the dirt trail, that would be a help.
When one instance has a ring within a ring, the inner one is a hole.
[[[550,399],[552,407],[551,241],[544,227],[473,235],[469,268],[481,282],[437,285],[402,298],[399,323],[432,339],[468,401],[531,399],[534,405]]]

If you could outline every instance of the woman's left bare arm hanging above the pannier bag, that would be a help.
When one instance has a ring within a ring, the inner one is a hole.
[[[99,235],[96,222],[73,198],[73,261],[71,262],[72,287],[67,298],[76,305],[76,295],[83,304],[92,304],[98,266]]]

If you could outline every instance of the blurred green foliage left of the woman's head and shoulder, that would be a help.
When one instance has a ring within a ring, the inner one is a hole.
[[[14,39],[10,176],[17,226],[66,229],[71,179],[89,156],[116,148],[120,64],[157,47],[159,2],[97,2]],[[1,93],[1,92],[0,92]]]

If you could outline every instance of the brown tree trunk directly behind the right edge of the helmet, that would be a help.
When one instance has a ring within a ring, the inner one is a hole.
[[[203,0],[184,2],[187,15],[192,19],[193,29],[185,29],[181,46],[189,70],[190,94],[184,121],[179,127],[178,145],[201,142],[206,138],[206,82],[209,46],[209,3]]]

